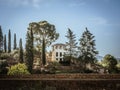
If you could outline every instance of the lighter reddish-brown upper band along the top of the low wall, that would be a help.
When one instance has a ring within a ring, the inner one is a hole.
[[[34,74],[34,75],[0,75],[1,80],[7,79],[120,79],[120,74]]]

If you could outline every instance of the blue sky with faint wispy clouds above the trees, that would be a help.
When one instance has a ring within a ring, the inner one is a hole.
[[[78,41],[87,27],[100,56],[120,57],[120,0],[0,0],[3,33],[11,29],[12,37],[16,33],[23,45],[29,23],[42,20],[54,24],[60,33],[55,43],[66,42],[68,28]]]

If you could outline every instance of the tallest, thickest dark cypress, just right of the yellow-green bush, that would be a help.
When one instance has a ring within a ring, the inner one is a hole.
[[[34,60],[34,43],[33,43],[33,31],[32,28],[29,26],[28,31],[27,31],[27,38],[26,38],[26,58],[25,58],[25,63],[28,67],[28,70],[30,73],[32,73],[32,68],[33,68],[33,60]]]

